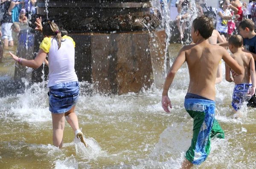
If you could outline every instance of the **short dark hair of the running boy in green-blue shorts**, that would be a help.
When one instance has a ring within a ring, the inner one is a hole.
[[[214,29],[211,17],[201,16],[193,20],[193,27],[195,31],[199,31],[202,37],[208,39],[212,36],[212,31]]]

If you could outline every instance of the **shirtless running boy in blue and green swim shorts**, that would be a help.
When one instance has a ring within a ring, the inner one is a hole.
[[[168,106],[172,108],[172,104],[168,90],[177,70],[187,62],[190,82],[184,106],[194,119],[194,125],[191,146],[182,163],[183,169],[189,169],[193,164],[201,164],[206,160],[210,152],[210,134],[219,127],[214,124],[215,79],[219,62],[223,59],[237,74],[242,73],[241,66],[227,50],[209,44],[208,38],[211,37],[213,29],[212,19],[209,17],[197,17],[193,21],[191,37],[195,45],[187,45],[180,50],[167,74],[163,88],[162,107],[169,113]]]

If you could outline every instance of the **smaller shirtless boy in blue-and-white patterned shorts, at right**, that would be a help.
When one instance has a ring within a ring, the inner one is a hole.
[[[241,75],[230,76],[230,67],[226,65],[226,80],[235,82],[235,87],[232,96],[233,112],[241,108],[244,101],[248,101],[255,93],[256,89],[256,73],[253,55],[243,52],[243,38],[240,35],[234,35],[228,40],[229,49],[232,52],[233,59],[242,67]],[[250,84],[250,79],[252,84]]]

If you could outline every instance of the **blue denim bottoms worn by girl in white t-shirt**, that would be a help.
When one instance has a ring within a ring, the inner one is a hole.
[[[49,111],[52,113],[66,113],[79,98],[79,83],[64,82],[49,87]]]

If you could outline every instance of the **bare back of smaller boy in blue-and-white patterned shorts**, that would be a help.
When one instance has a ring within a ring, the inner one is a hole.
[[[239,51],[232,55],[233,59],[242,67],[242,74],[233,76],[236,85],[250,83],[250,63],[253,62],[253,55],[247,52]]]

